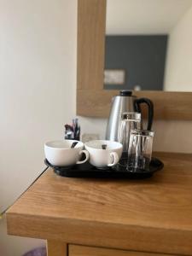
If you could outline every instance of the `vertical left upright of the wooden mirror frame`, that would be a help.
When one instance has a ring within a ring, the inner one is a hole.
[[[103,88],[106,0],[78,1],[78,89]]]

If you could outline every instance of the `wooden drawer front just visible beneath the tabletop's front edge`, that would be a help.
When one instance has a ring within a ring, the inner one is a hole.
[[[168,256],[161,253],[139,253],[101,247],[69,245],[68,256]],[[171,256],[171,254],[169,254]],[[173,256],[173,255],[172,255]]]

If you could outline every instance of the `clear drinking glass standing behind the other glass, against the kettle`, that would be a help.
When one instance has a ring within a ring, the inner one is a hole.
[[[119,123],[118,142],[123,144],[123,152],[129,148],[130,132],[134,129],[141,129],[141,113],[126,112],[121,114]]]

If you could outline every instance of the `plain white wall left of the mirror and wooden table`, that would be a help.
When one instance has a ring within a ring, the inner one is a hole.
[[[43,171],[44,142],[75,114],[76,22],[76,0],[0,0],[0,212]],[[34,246],[5,232],[0,219],[1,256]]]

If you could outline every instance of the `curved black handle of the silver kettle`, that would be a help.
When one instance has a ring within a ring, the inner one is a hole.
[[[141,110],[141,104],[142,103],[146,103],[148,105],[148,126],[147,126],[147,130],[150,131],[152,124],[153,124],[153,120],[154,120],[154,103],[151,102],[148,98],[140,98],[140,99],[136,99],[134,101],[134,108],[135,111],[142,113]]]

